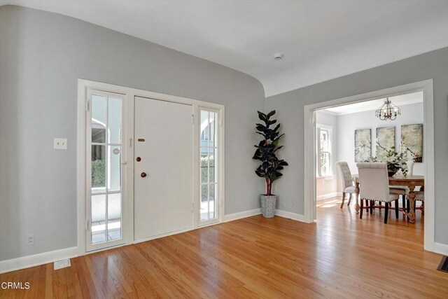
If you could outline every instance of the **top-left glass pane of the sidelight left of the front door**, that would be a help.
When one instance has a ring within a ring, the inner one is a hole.
[[[92,142],[106,142],[106,123],[106,97],[101,95],[92,95]]]

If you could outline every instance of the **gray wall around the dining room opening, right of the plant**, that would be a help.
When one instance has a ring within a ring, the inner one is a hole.
[[[276,109],[286,137],[281,158],[289,162],[276,182],[279,207],[303,214],[304,125],[303,106],[360,95],[433,78],[435,127],[435,242],[448,244],[446,196],[448,169],[448,48],[367,69],[306,88],[268,97],[266,111]]]

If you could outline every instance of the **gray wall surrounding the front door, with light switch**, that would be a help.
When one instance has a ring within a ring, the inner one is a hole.
[[[258,81],[87,22],[1,6],[0,260],[76,246],[78,78],[224,104],[225,213],[260,207],[251,159],[265,98]],[[69,149],[54,151],[54,137]]]

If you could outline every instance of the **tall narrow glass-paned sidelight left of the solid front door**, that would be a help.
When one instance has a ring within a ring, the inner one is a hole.
[[[125,96],[87,90],[87,251],[125,243]]]

